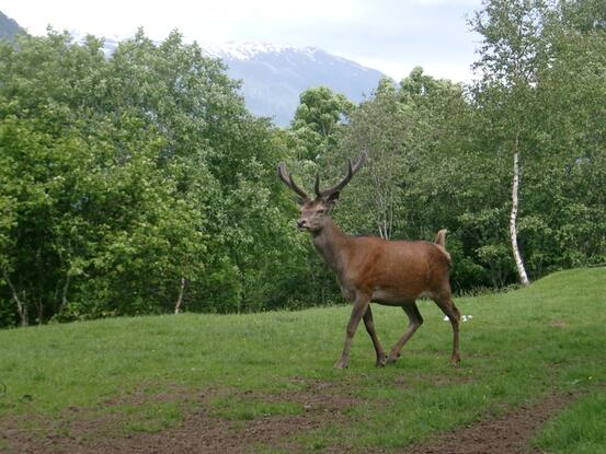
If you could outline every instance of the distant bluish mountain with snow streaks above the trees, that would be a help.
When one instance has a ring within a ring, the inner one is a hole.
[[[242,81],[247,107],[255,115],[288,125],[299,104],[299,94],[325,85],[359,102],[376,89],[384,74],[352,60],[313,47],[276,44],[201,44],[211,57],[221,58],[230,78]]]

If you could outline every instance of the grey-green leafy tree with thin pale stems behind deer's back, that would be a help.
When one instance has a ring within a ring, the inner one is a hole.
[[[368,155],[355,182],[343,191],[336,212],[346,231],[385,238],[403,235],[407,207],[401,198],[411,179],[404,168],[415,159],[415,112],[399,102],[389,79],[353,113],[341,147],[331,158],[334,168],[329,171],[333,178],[342,178],[346,159],[355,161],[363,152]]]

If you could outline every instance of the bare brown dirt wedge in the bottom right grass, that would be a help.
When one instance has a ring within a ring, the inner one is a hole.
[[[567,404],[573,394],[551,395],[537,404],[522,406],[501,418],[483,420],[405,450],[411,454],[530,454],[536,431]]]

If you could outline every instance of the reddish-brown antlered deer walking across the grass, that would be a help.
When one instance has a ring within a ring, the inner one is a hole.
[[[320,189],[320,175],[316,174],[313,199],[295,183],[284,162],[281,162],[277,168],[279,178],[299,197],[298,230],[311,234],[313,246],[336,275],[342,295],[353,303],[343,352],[334,368],[347,366],[352,340],[361,319],[364,319],[364,326],[375,347],[376,365],[395,363],[400,358],[404,345],[423,324],[423,317],[416,306],[416,300],[421,296],[432,299],[450,321],[450,363],[457,365],[460,362],[460,313],[451,299],[451,261],[445,246],[447,231],[441,230],[435,243],[388,241],[376,236],[351,236],[339,229],[331,219],[331,210],[341,190],[359,171],[366,159],[366,152],[363,152],[353,165],[348,159],[345,177],[328,189]],[[408,315],[408,328],[391,348],[389,356],[386,354],[375,330],[370,302],[400,306]]]

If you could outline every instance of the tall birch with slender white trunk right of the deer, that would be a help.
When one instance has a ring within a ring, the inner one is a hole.
[[[512,160],[510,240],[522,284],[529,279],[518,245],[519,193],[523,162],[531,160],[534,152],[537,73],[548,61],[542,37],[547,15],[544,0],[491,0],[471,21],[483,39],[474,65],[479,72],[476,101],[490,117],[494,151]]]

